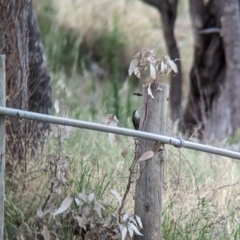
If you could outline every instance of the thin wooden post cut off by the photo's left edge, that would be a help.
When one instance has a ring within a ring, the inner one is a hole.
[[[0,106],[6,106],[5,55],[0,55]],[[4,238],[5,116],[0,115],[0,240]]]

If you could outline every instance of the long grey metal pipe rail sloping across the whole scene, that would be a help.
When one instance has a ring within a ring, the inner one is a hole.
[[[0,115],[32,119],[32,120],[37,120],[42,122],[49,122],[53,124],[66,125],[66,126],[90,129],[90,130],[101,131],[101,132],[115,133],[115,134],[124,135],[124,136],[131,136],[131,137],[140,138],[140,139],[142,138],[142,139],[148,139],[153,141],[159,141],[161,143],[170,144],[175,147],[184,147],[188,149],[212,153],[212,154],[240,160],[239,152],[234,152],[234,151],[229,151],[223,148],[217,148],[217,147],[208,146],[204,144],[189,142],[180,138],[172,138],[172,137],[167,137],[167,136],[158,135],[158,134],[149,133],[149,132],[136,131],[128,128],[112,127],[109,125],[104,125],[99,123],[92,123],[92,122],[75,120],[70,118],[63,118],[58,116],[23,111],[23,110],[7,108],[7,107],[0,107]]]

